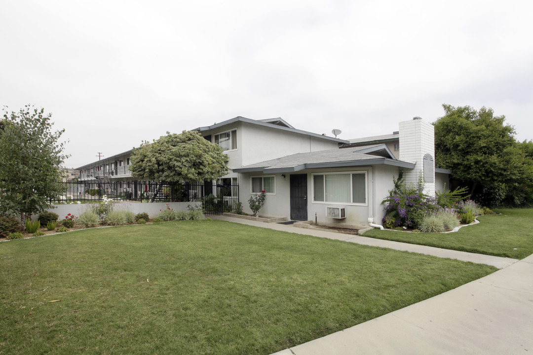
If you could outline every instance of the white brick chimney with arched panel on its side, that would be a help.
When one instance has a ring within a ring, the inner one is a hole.
[[[407,184],[416,184],[422,174],[424,192],[435,196],[435,133],[431,123],[420,117],[400,122],[400,160],[415,163],[414,169],[405,169]]]

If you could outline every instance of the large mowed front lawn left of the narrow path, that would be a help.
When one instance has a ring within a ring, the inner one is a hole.
[[[496,269],[229,222],[0,243],[0,354],[269,354]]]

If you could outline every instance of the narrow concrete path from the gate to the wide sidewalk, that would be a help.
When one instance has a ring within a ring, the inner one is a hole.
[[[518,261],[518,259],[493,257],[491,255],[482,255],[482,254],[469,253],[465,251],[441,249],[441,248],[437,248],[433,246],[385,241],[382,239],[369,238],[369,237],[364,237],[364,236],[359,236],[359,235],[327,232],[326,230],[316,230],[316,229],[310,229],[310,228],[296,228],[293,225],[265,223],[265,222],[258,222],[258,221],[252,221],[252,220],[247,220],[247,219],[242,219],[242,218],[225,217],[225,216],[211,216],[211,218],[217,219],[217,220],[229,221],[229,222],[237,222],[237,223],[246,224],[249,226],[282,230],[283,232],[313,235],[316,237],[335,239],[335,240],[344,241],[344,242],[379,246],[379,247],[384,247],[384,248],[389,248],[389,249],[409,251],[413,253],[426,254],[426,255],[433,255],[439,258],[449,258],[449,259],[456,259],[456,260],[462,260],[462,261],[471,261],[471,262],[475,262],[478,264],[491,265],[491,266],[497,267],[498,269],[505,268],[507,266],[512,265],[516,261]],[[398,232],[398,233],[401,233],[401,232]]]

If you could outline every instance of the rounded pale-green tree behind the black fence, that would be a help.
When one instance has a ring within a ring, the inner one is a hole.
[[[130,171],[135,177],[159,183],[194,183],[226,175],[227,160],[219,145],[207,141],[197,131],[167,132],[157,141],[145,141],[139,148],[133,148]],[[161,185],[154,197],[160,188]]]

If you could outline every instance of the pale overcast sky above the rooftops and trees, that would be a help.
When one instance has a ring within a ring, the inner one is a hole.
[[[66,131],[67,167],[166,131],[281,117],[390,134],[442,104],[533,138],[533,1],[0,2],[0,105]]]

